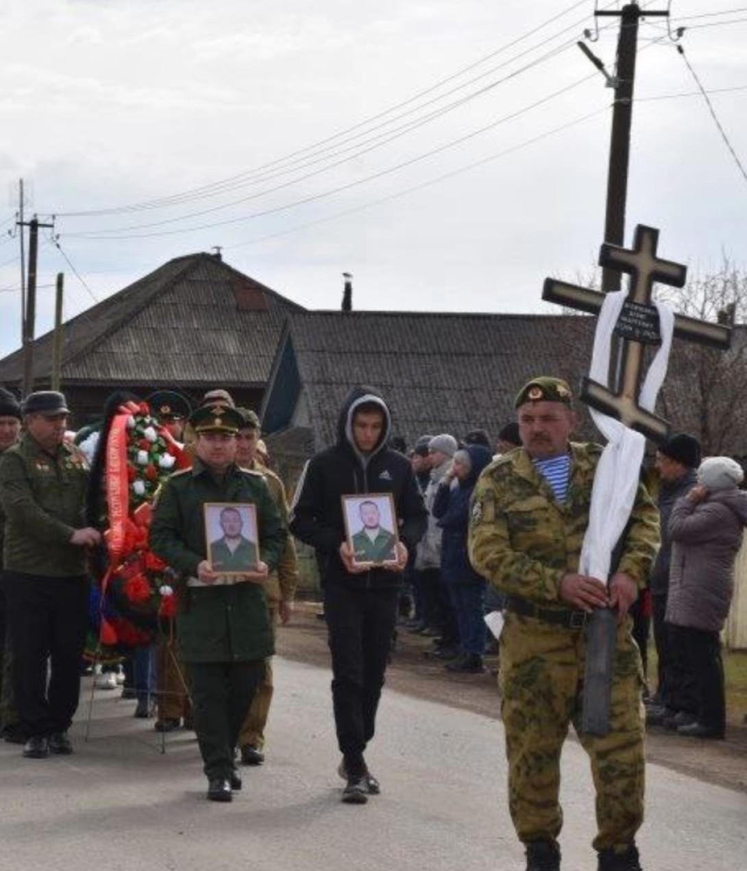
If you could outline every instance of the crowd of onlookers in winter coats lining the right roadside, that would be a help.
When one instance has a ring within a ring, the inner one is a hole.
[[[426,655],[443,660],[449,672],[484,672],[484,655],[497,652],[484,616],[503,602],[467,556],[469,503],[482,469],[519,446],[519,427],[509,423],[494,445],[477,429],[459,442],[448,434],[422,436],[409,451],[429,518],[408,566],[404,625],[433,639]],[[703,460],[696,438],[678,434],[659,446],[642,477],[658,505],[662,534],[649,584],[632,609],[647,720],[672,733],[723,738],[720,636],[747,525],[747,494],[739,489],[744,472],[729,457]],[[652,628],[655,692],[649,692]]]

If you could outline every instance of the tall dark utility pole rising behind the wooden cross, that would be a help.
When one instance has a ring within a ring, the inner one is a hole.
[[[612,112],[612,134],[609,144],[607,180],[607,213],[604,240],[611,245],[625,244],[625,208],[628,201],[628,168],[630,165],[630,130],[633,124],[633,94],[635,89],[635,57],[638,51],[638,24],[643,17],[668,17],[667,10],[642,10],[632,2],[621,10],[597,10],[597,17],[620,17],[617,42],[617,75],[615,103]],[[588,52],[587,52],[588,53]],[[621,273],[605,268],[601,289],[605,293],[620,290]]]

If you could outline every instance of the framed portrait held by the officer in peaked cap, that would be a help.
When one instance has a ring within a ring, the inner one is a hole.
[[[204,510],[207,559],[213,571],[226,577],[257,571],[260,548],[255,506],[209,502]]]

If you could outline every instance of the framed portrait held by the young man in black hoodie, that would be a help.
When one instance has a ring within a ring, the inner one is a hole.
[[[354,563],[397,563],[397,513],[390,493],[343,496],[343,517]]]

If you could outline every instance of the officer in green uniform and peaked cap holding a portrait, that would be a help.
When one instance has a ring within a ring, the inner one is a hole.
[[[264,660],[274,652],[263,584],[281,557],[287,531],[264,477],[234,462],[241,415],[219,403],[198,408],[189,422],[194,465],[171,476],[160,491],[150,544],[181,577],[177,630],[192,685],[207,798],[230,801],[232,790],[241,789],[234,768],[241,723],[264,678]],[[255,505],[260,544],[255,571],[221,577],[208,560],[205,503]]]

